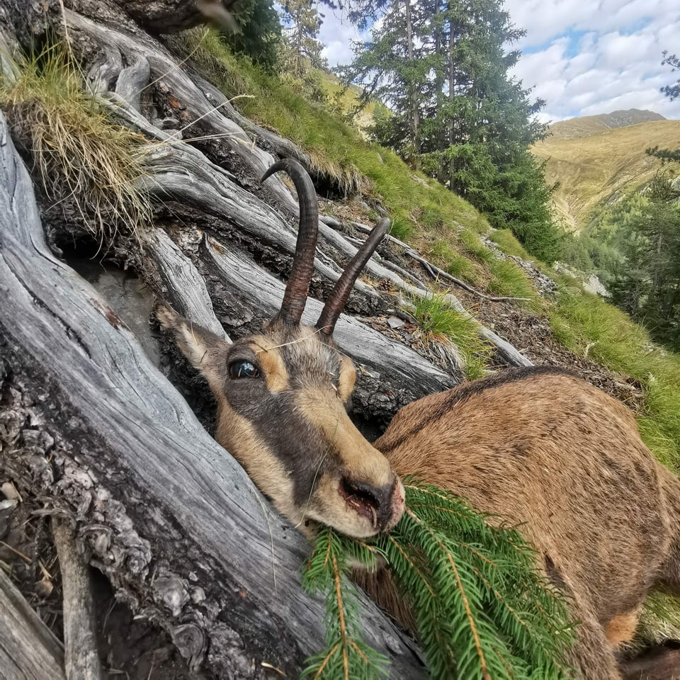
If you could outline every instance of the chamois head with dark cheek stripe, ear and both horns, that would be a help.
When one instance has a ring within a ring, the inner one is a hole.
[[[404,488],[347,415],[356,370],[335,347],[333,329],[390,222],[381,220],[348,264],[316,327],[301,325],[314,269],[317,196],[292,159],[271,166],[262,181],[279,170],[295,183],[300,227],[276,317],[260,334],[231,345],[168,307],[158,318],[217,398],[217,441],[278,511],[308,534],[317,521],[355,538],[373,536],[401,518]]]

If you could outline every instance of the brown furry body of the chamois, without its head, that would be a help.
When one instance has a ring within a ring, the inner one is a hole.
[[[574,375],[508,370],[424,397],[373,446],[397,475],[520,525],[572,598],[584,678],[621,677],[613,652],[632,638],[653,586],[680,594],[680,482],[642,443],[630,410]],[[400,615],[389,592],[375,594]]]

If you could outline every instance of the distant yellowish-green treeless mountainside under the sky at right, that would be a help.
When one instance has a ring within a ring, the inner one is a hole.
[[[625,125],[638,116],[647,116],[646,122]],[[618,127],[613,127],[617,121]],[[661,162],[647,156],[645,149],[680,147],[680,120],[635,109],[572,118],[551,130],[553,135],[534,145],[532,152],[547,161],[548,182],[560,183],[555,209],[568,231],[580,231],[600,203],[652,179]]]

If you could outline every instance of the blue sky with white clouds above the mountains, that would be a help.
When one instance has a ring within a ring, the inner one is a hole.
[[[640,108],[680,118],[680,101],[659,88],[680,77],[662,66],[662,52],[680,55],[680,0],[506,0],[526,36],[513,74],[545,99],[538,118]],[[360,36],[339,12],[325,14],[319,33],[329,64],[348,63]]]

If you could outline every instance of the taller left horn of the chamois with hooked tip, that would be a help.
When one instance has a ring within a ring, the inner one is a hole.
[[[317,192],[307,171],[295,159],[284,158],[277,161],[265,174],[261,182],[275,172],[285,170],[295,184],[297,203],[300,205],[300,226],[297,228],[297,245],[290,270],[288,284],[285,286],[280,319],[286,324],[296,325],[302,319],[307,295],[310,293],[310,280],[314,273],[314,254],[317,250],[317,231],[319,229],[319,205]]]

